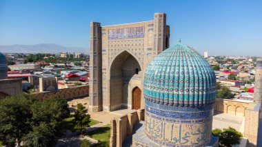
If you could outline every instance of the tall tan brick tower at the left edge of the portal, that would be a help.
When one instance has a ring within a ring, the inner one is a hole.
[[[90,23],[90,87],[89,110],[102,110],[102,42],[100,23]]]

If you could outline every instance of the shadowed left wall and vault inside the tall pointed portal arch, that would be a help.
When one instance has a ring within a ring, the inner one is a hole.
[[[114,59],[110,66],[110,110],[128,108],[128,99],[132,101],[128,88],[132,77],[140,71],[139,62],[127,51],[121,52]]]

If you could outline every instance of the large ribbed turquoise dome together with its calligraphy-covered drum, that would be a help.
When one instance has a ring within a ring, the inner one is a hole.
[[[177,44],[144,77],[145,135],[161,146],[207,146],[212,139],[216,77],[192,48]]]

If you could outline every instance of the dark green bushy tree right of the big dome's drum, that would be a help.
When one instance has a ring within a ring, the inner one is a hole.
[[[212,130],[213,135],[219,137],[219,146],[230,147],[233,144],[240,144],[241,137],[243,135],[234,128],[223,128]]]

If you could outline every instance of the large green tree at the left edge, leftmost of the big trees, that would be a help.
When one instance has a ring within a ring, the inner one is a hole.
[[[0,101],[0,140],[6,146],[14,146],[32,130],[30,106],[36,101],[27,95],[6,97]]]

